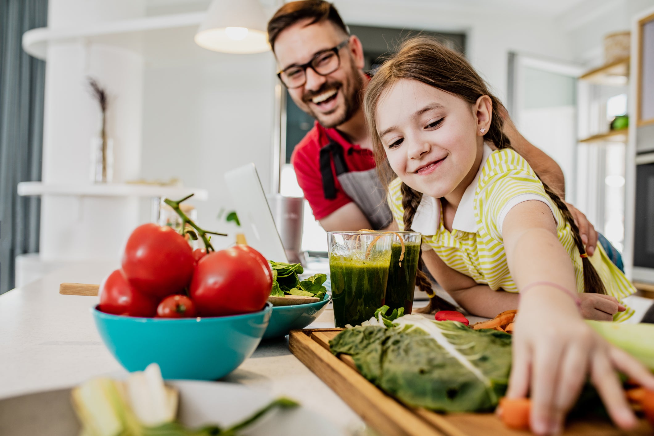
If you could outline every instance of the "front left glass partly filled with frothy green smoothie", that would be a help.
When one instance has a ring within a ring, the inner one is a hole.
[[[358,326],[384,305],[393,235],[328,231],[334,324]]]

